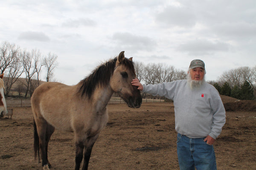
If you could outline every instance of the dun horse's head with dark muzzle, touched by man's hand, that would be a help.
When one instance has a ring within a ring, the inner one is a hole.
[[[132,58],[127,59],[122,51],[116,60],[113,75],[110,79],[112,90],[119,94],[131,108],[140,108],[142,97],[136,86],[132,85],[132,79],[136,77]]]

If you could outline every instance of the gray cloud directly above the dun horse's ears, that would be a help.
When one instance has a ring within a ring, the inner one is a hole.
[[[116,40],[117,46],[121,47],[123,49],[128,49],[131,51],[140,51],[140,50],[147,50],[152,51],[157,43],[145,36],[136,36],[133,34],[130,34],[128,32],[126,33],[115,33],[112,37],[113,40]]]

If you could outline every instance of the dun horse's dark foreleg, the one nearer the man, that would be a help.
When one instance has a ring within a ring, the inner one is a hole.
[[[88,138],[87,144],[84,148],[84,163],[82,170],[87,170],[88,169],[88,164],[90,160],[90,155],[92,153],[93,145],[96,142],[96,139],[98,138],[98,134],[96,136]]]

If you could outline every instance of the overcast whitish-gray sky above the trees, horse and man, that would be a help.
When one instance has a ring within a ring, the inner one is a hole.
[[[77,84],[125,51],[135,62],[187,71],[206,80],[256,65],[256,0],[0,0],[0,42],[58,56],[55,79]],[[42,80],[45,78],[42,76]]]

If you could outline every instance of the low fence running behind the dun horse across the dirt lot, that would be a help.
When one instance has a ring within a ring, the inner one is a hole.
[[[143,102],[165,102],[163,99],[143,99]],[[125,103],[120,97],[112,97],[109,101],[109,104],[119,104]],[[30,99],[15,99],[10,98],[6,99],[7,107],[31,107]]]

